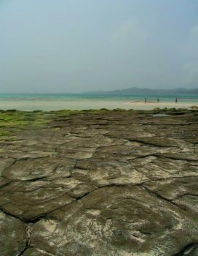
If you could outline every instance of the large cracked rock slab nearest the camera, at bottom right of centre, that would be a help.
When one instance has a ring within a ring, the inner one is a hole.
[[[37,222],[33,234],[33,247],[57,256],[173,255],[197,229],[191,214],[142,187],[103,187]]]

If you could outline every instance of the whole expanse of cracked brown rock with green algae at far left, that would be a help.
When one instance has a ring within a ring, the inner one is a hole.
[[[1,256],[198,255],[197,110],[1,111],[0,127]]]

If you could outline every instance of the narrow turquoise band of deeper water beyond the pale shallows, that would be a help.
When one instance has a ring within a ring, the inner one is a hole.
[[[181,102],[198,102],[198,95],[176,95],[176,94],[0,94],[0,99],[66,99],[66,100],[130,100],[130,101],[144,101],[145,97],[147,101],[160,101],[173,102],[175,97]]]

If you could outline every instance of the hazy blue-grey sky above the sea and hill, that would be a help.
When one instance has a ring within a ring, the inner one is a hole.
[[[0,0],[0,92],[198,87],[197,0]]]

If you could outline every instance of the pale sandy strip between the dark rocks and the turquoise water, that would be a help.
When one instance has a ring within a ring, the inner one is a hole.
[[[33,110],[89,110],[100,108],[106,108],[113,110],[121,108],[125,110],[154,110],[154,108],[191,108],[195,106],[198,108],[198,102],[129,102],[126,100],[41,100],[41,99],[1,99],[0,110],[22,110],[22,111],[33,111]]]

